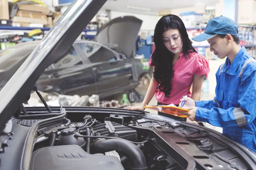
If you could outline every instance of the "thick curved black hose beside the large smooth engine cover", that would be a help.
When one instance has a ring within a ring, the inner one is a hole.
[[[121,139],[96,139],[93,142],[93,150],[105,153],[112,150],[126,156],[131,160],[132,170],[147,170],[147,164],[143,152],[135,144]]]

